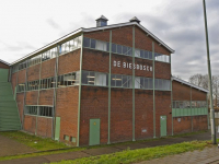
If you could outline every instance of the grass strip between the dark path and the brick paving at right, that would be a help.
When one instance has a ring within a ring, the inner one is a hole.
[[[146,148],[138,150],[126,150],[113,154],[83,157],[73,161],[61,161],[51,164],[126,164],[151,159],[162,157],[166,155],[180,154],[194,150],[203,150],[211,147],[209,141],[192,141],[172,145],[163,145],[155,148]]]

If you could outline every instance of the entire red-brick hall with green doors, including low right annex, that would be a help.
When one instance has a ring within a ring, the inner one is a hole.
[[[137,17],[95,21],[0,60],[0,131],[82,147],[208,129],[208,91],[171,75],[172,48]]]

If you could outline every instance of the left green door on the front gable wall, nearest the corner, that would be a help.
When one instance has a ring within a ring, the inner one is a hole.
[[[100,144],[100,119],[90,119],[89,145]]]

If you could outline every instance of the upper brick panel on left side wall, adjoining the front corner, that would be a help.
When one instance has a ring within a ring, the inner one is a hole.
[[[58,74],[70,73],[80,70],[80,52],[77,49],[66,55],[59,56],[58,60]]]

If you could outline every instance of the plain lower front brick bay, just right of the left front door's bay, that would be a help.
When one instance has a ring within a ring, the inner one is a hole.
[[[132,140],[132,90],[111,91],[111,142]]]

